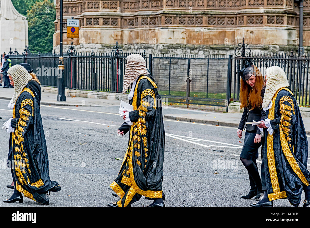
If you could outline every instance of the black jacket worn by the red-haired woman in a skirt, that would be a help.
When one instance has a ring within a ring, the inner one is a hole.
[[[262,88],[261,96],[262,99],[264,98],[265,93],[265,86]],[[243,130],[246,129],[247,131],[256,131],[256,134],[260,134],[259,128],[251,124],[245,124],[249,121],[260,121],[265,119],[265,112],[263,111],[263,108],[254,108],[251,110],[250,106],[244,107],[243,114],[239,123],[238,129]],[[245,126],[246,125],[246,126]]]

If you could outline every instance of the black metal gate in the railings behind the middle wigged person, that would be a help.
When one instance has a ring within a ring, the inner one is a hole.
[[[232,55],[152,55],[151,72],[168,103],[226,107]]]

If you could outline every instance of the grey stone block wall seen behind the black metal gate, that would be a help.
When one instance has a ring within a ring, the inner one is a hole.
[[[189,75],[191,92],[226,93],[228,59],[191,59]],[[170,68],[170,95],[178,95],[175,91],[186,92],[186,78],[188,59],[155,58],[153,76],[159,90],[169,90]],[[208,79],[208,80],[207,80]],[[207,85],[208,84],[208,85]],[[173,94],[172,94],[173,93]]]

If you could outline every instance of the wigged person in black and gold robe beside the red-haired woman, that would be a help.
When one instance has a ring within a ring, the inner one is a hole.
[[[266,79],[262,167],[266,191],[264,198],[251,206],[273,206],[272,200],[281,198],[298,206],[303,190],[307,204],[310,200],[308,141],[299,107],[280,67],[268,68]]]

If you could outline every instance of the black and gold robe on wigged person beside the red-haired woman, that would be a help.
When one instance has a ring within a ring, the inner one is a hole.
[[[286,87],[277,91],[266,112],[274,130],[266,129],[263,148],[264,171],[269,200],[288,198],[299,204],[303,185],[309,185],[308,141],[294,94]]]

